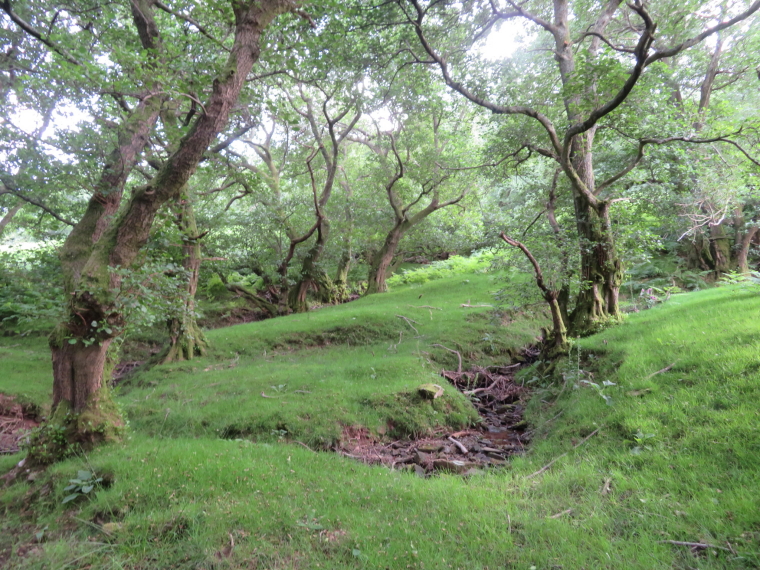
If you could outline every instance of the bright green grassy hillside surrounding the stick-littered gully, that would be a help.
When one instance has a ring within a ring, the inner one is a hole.
[[[431,345],[459,351],[465,369],[509,364],[543,321],[462,306],[493,303],[499,286],[491,275],[460,275],[211,332],[211,356],[115,389],[131,424],[123,443],[3,490],[0,560],[756,568],[756,292],[675,296],[580,341],[559,380],[522,370],[515,382],[532,390],[531,443],[505,467],[419,477],[329,451],[360,431],[390,444],[472,424],[467,397],[440,376],[457,369],[457,356]],[[44,340],[1,341],[0,392],[44,404]],[[416,397],[423,383],[444,395]],[[21,457],[3,456],[0,471]],[[79,471],[103,481],[63,503]]]

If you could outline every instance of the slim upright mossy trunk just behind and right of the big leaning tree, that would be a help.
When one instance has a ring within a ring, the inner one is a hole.
[[[205,356],[208,348],[206,335],[198,326],[195,317],[195,294],[198,291],[198,276],[201,269],[201,244],[195,212],[190,202],[185,202],[178,216],[182,230],[182,265],[188,273],[185,299],[179,316],[169,321],[169,347],[162,362],[192,360],[195,356]]]

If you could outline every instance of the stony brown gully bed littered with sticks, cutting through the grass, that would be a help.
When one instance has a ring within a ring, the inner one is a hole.
[[[479,425],[430,437],[379,441],[366,428],[347,427],[336,451],[368,464],[409,469],[421,476],[434,471],[472,475],[484,468],[504,465],[522,453],[530,441],[523,420],[527,389],[515,384],[521,364],[473,367],[467,371],[444,370],[442,376],[467,395],[481,417]]]

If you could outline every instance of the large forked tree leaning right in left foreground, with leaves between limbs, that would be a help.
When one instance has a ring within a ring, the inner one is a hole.
[[[256,0],[175,10],[156,0],[135,0],[128,10],[85,2],[31,4],[19,14],[6,0],[2,8],[29,41],[51,50],[62,73],[72,67],[98,81],[100,92],[121,110],[87,209],[60,250],[67,316],[50,337],[52,420],[66,425],[72,439],[94,443],[120,423],[104,387],[104,368],[125,324],[117,302],[123,271],[138,258],[159,209],[177,200],[224,131],[259,59],[266,28],[277,16],[298,12],[298,5]],[[101,38],[111,41],[108,49]],[[186,59],[180,58],[183,52]],[[204,68],[214,70],[213,77]],[[123,199],[150,137],[160,136],[161,113],[176,109],[178,99],[189,102],[185,133],[150,180]]]

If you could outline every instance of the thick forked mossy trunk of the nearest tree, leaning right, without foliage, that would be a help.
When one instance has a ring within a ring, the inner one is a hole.
[[[153,50],[160,47],[153,21],[153,5],[140,2],[135,7],[135,23],[144,42]],[[260,37],[279,14],[296,8],[287,0],[234,2],[235,37],[224,70],[214,80],[211,95],[188,133],[160,167],[154,178],[135,189],[118,213],[122,189],[139,153],[146,144],[161,109],[162,96],[142,99],[125,122],[119,146],[111,153],[87,211],[61,248],[60,257],[68,293],[68,317],[50,338],[53,358],[53,405],[70,407],[77,415],[94,413],[103,406],[100,396],[106,352],[124,326],[116,298],[121,274],[147,242],[158,210],[177,200],[203,158],[206,149],[227,124],[254,62],[260,53]],[[114,425],[118,417],[104,417]],[[95,426],[100,433],[108,425]]]

